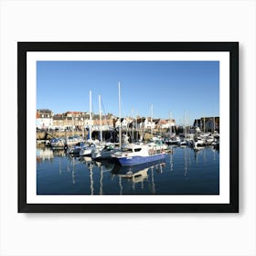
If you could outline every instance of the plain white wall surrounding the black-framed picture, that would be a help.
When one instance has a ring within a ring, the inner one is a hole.
[[[0,8],[1,256],[256,255],[255,1],[2,0]],[[240,41],[240,214],[17,214],[17,41]]]

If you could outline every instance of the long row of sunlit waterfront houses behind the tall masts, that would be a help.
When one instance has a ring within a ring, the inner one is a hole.
[[[100,130],[100,115],[90,112],[64,112],[54,114],[50,110],[37,110],[37,129],[86,129],[93,126],[94,130]],[[121,127],[123,129],[165,129],[175,126],[175,120],[153,119],[150,117],[133,119],[132,117],[117,118],[108,113],[101,116],[101,129],[108,130]]]

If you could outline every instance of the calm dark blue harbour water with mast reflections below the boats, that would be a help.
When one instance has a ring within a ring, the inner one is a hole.
[[[37,195],[120,194],[219,194],[219,152],[173,147],[165,161],[122,167],[37,148]]]

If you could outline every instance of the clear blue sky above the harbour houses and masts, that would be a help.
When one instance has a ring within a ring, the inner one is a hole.
[[[121,82],[122,116],[169,118],[193,123],[219,116],[219,61],[37,61],[37,109],[54,113],[92,111],[118,115]]]

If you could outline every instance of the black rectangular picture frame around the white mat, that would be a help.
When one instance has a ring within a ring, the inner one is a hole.
[[[229,52],[229,204],[27,203],[27,52]],[[239,212],[239,42],[17,42],[19,213],[225,213]]]

